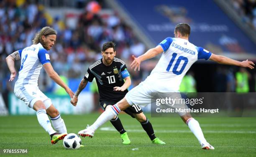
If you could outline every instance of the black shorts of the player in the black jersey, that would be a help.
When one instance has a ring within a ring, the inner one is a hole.
[[[105,109],[106,109],[106,107],[107,107],[108,105],[114,105],[114,104],[116,104],[116,103],[117,103],[117,102],[114,102],[114,101],[101,101],[101,102],[100,102],[100,107],[101,107],[101,109],[103,109],[103,110],[105,111]],[[133,105],[133,106],[130,106],[130,107],[128,107],[127,109],[125,109],[124,112],[127,113],[127,114],[129,114],[131,117],[135,118],[135,117],[133,116],[133,114],[140,114],[140,113],[142,113],[143,111],[142,111],[142,109],[141,109],[140,106],[138,106],[138,105]]]

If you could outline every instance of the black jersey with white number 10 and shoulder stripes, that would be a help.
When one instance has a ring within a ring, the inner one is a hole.
[[[101,58],[87,69],[84,79],[90,82],[92,82],[94,78],[96,79],[100,94],[100,101],[119,101],[123,99],[128,90],[113,91],[113,88],[115,86],[123,86],[124,78],[122,77],[121,72],[125,70],[126,65],[122,60],[114,58],[112,64],[110,66],[106,66],[103,64]]]

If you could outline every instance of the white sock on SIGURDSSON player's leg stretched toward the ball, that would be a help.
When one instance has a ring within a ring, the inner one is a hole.
[[[105,122],[110,121],[115,116],[117,116],[120,112],[120,109],[115,104],[111,106],[110,108],[106,109],[99,117],[98,119],[90,126],[91,129],[97,130],[100,126],[102,126]]]

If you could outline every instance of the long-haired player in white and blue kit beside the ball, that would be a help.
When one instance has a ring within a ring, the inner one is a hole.
[[[54,46],[56,34],[54,29],[44,27],[35,35],[33,45],[15,51],[6,58],[11,72],[9,81],[13,81],[17,74],[14,66],[15,61],[21,60],[18,80],[14,86],[14,94],[20,100],[23,100],[28,107],[36,111],[38,122],[50,134],[52,144],[57,143],[67,135],[67,128],[63,119],[61,119],[59,111],[51,103],[51,99],[38,89],[38,77],[41,68],[44,67],[48,76],[64,88],[71,98],[74,96],[71,89],[61,80],[51,66],[50,56],[47,51]],[[52,125],[56,131],[51,127],[47,114],[51,117]]]

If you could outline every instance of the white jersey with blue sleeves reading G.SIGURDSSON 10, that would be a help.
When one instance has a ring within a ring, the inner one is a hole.
[[[189,68],[199,59],[208,60],[212,53],[182,38],[166,38],[159,43],[164,50],[156,67],[143,84],[159,92],[177,92]]]

